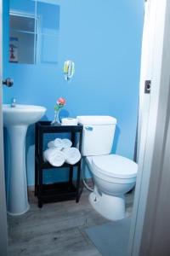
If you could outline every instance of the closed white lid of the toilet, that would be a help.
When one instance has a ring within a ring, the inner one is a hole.
[[[99,172],[111,177],[136,177],[138,171],[138,165],[133,160],[117,154],[94,156],[92,163]]]

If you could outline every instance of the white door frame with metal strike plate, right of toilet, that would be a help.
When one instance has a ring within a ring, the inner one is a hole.
[[[167,149],[170,147],[170,0],[148,0],[147,4],[140,88],[144,91],[144,80],[151,79],[151,91],[149,101],[144,95],[141,100],[142,108],[149,111],[144,112],[140,119],[139,175],[128,255],[167,256],[170,255],[170,172],[167,168]],[[147,56],[148,60],[145,59]],[[145,67],[144,60],[148,64]],[[169,229],[163,230],[167,225]]]

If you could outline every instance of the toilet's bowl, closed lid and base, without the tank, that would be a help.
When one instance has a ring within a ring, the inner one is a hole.
[[[91,205],[110,220],[125,218],[124,195],[135,185],[137,164],[116,154],[86,157],[86,162],[94,177]]]

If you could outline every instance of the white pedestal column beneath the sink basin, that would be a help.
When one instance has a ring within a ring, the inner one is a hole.
[[[8,187],[7,211],[20,215],[29,210],[26,181],[26,125],[7,127],[8,150]]]

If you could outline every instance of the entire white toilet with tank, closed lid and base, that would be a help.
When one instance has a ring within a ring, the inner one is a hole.
[[[121,155],[111,154],[116,119],[111,116],[78,116],[83,125],[82,155],[94,177],[89,201],[105,218],[125,218],[124,194],[136,182],[138,165]]]

